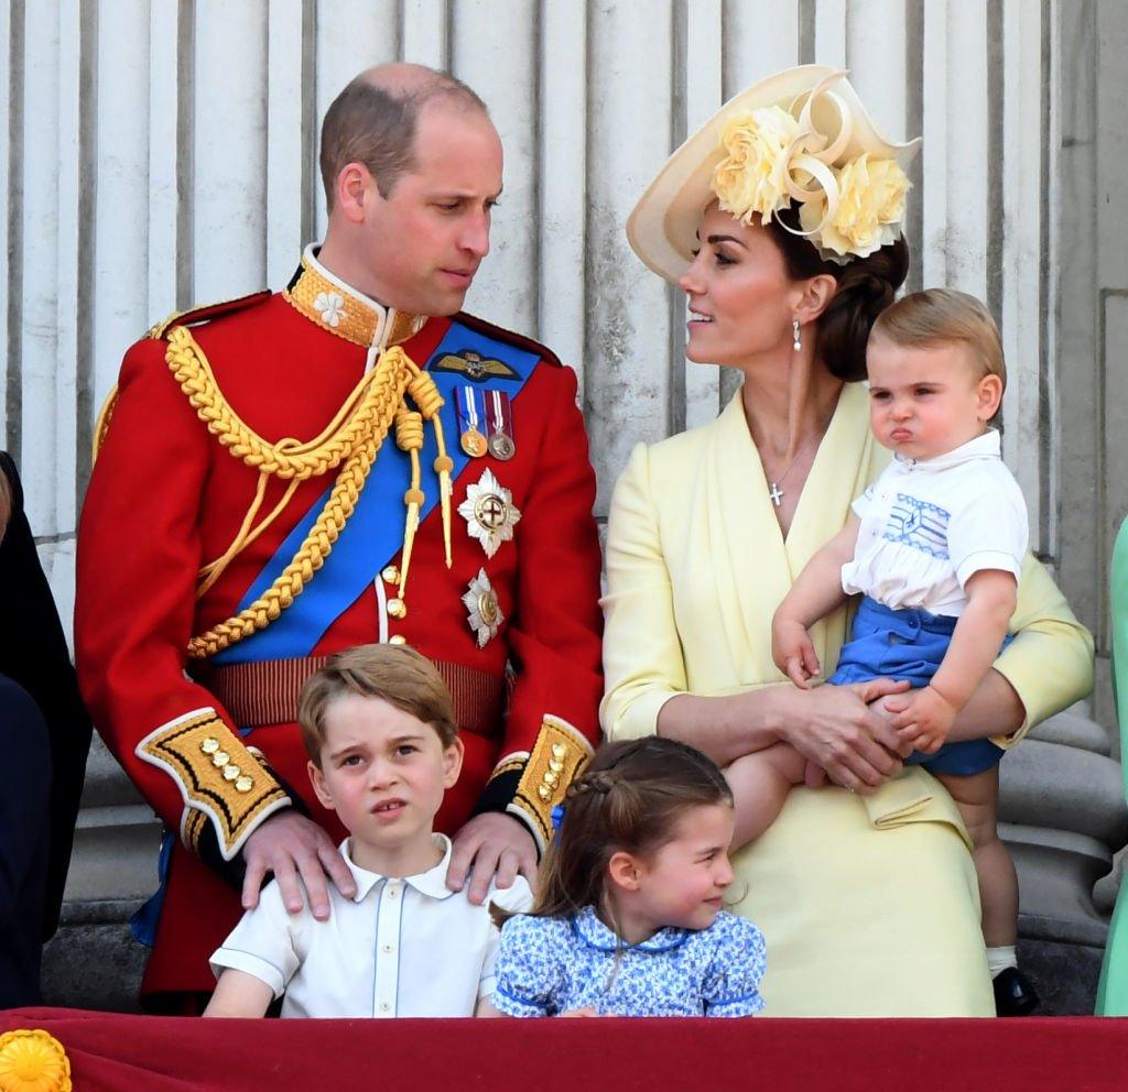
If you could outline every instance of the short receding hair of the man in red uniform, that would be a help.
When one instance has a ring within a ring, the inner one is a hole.
[[[333,211],[337,176],[349,163],[363,163],[387,198],[405,171],[415,168],[415,131],[423,106],[448,98],[488,116],[485,103],[461,80],[433,72],[411,90],[380,87],[368,72],[355,77],[333,100],[321,123],[321,183]]]

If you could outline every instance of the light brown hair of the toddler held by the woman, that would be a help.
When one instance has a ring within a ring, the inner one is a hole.
[[[959,343],[971,349],[984,375],[997,375],[1006,388],[1003,341],[990,311],[973,295],[955,288],[925,288],[890,304],[873,323],[871,338],[906,348]]]

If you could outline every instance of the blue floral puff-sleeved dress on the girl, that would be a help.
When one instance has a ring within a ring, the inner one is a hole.
[[[708,929],[662,929],[625,944],[584,907],[505,922],[493,1005],[509,1016],[591,1007],[618,1016],[750,1016],[764,1007],[764,935],[717,914]]]

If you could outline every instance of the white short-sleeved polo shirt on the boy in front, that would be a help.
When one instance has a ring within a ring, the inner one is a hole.
[[[280,996],[283,1016],[470,1016],[494,989],[499,931],[490,903],[522,913],[532,893],[522,877],[490,888],[474,906],[466,889],[447,888],[450,840],[434,835],[442,860],[426,872],[389,879],[354,864],[349,840],[341,854],[356,880],[345,898],[329,885],[332,913],[319,922],[308,906],[289,914],[276,882],[247,911],[211,957],[246,971]]]

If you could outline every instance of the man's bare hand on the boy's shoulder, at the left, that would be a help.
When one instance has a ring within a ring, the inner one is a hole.
[[[329,916],[328,881],[345,898],[356,894],[341,851],[312,819],[297,811],[273,815],[258,827],[243,850],[247,865],[243,878],[243,908],[258,905],[258,893],[267,873],[279,881],[282,903],[291,914],[301,913],[309,900],[310,913],[319,922]]]

